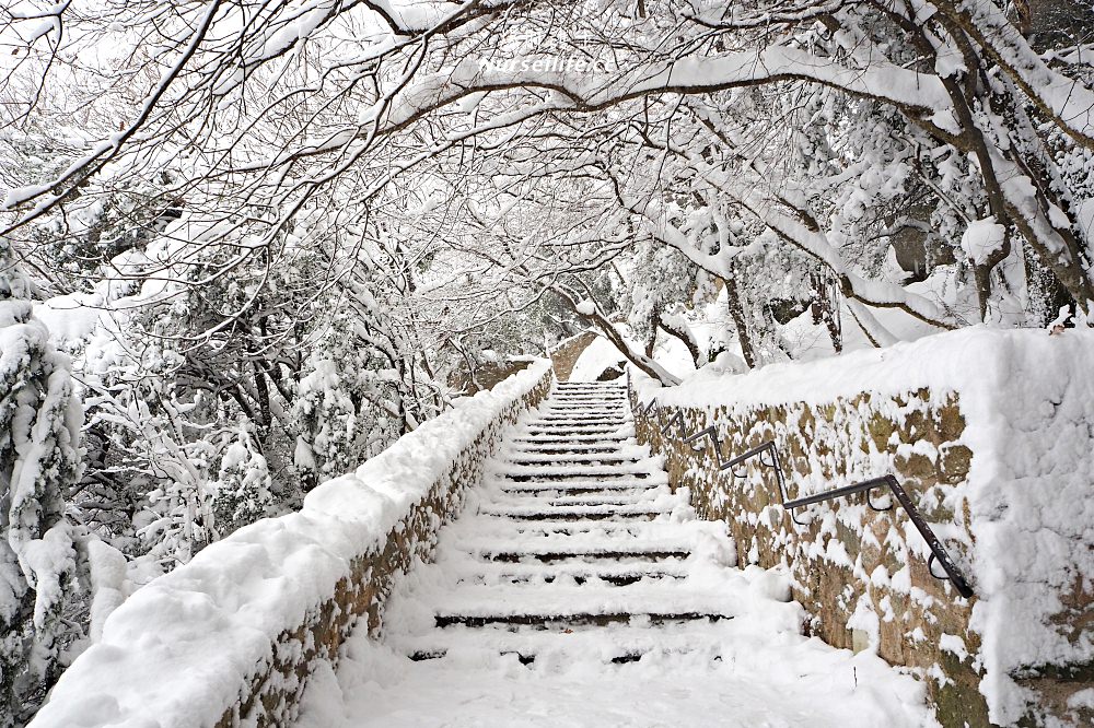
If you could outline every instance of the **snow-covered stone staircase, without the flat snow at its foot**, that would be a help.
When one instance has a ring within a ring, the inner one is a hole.
[[[700,648],[734,615],[724,589],[694,578],[732,557],[724,527],[695,520],[671,492],[633,441],[620,386],[559,385],[507,441],[479,497],[420,570],[416,623],[396,618],[388,632],[415,659],[489,648],[525,664],[545,653],[622,662]]]

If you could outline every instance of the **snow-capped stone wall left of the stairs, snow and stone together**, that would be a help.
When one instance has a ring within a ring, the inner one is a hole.
[[[376,629],[393,578],[428,560],[502,431],[551,389],[537,360],[423,423],[304,507],[245,527],[138,590],[31,724],[284,726],[319,660]]]

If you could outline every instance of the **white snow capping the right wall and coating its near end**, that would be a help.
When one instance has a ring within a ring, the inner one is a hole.
[[[973,627],[984,638],[986,669],[980,688],[992,721],[1009,725],[1029,697],[1012,672],[1094,659],[1094,634],[1072,642],[1050,621],[1062,610],[1061,594],[1076,584],[1094,588],[1092,373],[1092,331],[1050,336],[980,326],[744,375],[700,369],[673,388],[641,375],[635,381],[643,402],[656,397],[708,412],[920,388],[941,402],[956,392],[966,421],[962,442],[974,457],[968,480],[951,497],[967,500],[971,514]]]

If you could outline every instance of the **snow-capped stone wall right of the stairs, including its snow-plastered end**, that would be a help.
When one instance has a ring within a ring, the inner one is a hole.
[[[637,416],[672,482],[730,524],[742,565],[790,570],[806,631],[913,668],[946,726],[1094,717],[1075,703],[1094,685],[1094,332],[974,329],[636,388],[663,422],[715,423],[723,459],[773,438],[791,498],[895,473],[976,591],[929,574],[899,507],[860,494],[799,512],[798,526],[769,468],[718,472],[707,441],[697,455],[675,426]]]

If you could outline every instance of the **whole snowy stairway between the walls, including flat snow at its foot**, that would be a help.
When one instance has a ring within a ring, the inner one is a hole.
[[[526,415],[434,559],[397,583],[383,644],[359,630],[316,672],[299,726],[936,725],[921,683],[801,636],[787,579],[733,566],[618,385]]]

